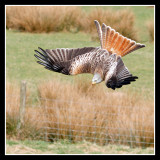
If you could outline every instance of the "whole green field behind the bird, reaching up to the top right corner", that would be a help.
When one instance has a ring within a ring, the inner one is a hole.
[[[96,6],[81,6],[90,11]],[[103,9],[129,9],[135,14],[135,25],[139,30],[140,42],[145,48],[135,51],[123,58],[128,69],[137,75],[139,80],[125,88],[154,89],[154,43],[149,42],[146,22],[154,18],[154,8],[147,6],[102,6]],[[9,81],[18,83],[25,79],[29,85],[35,85],[40,80],[56,76],[61,79],[72,80],[71,77],[45,70],[36,63],[34,50],[38,46],[46,48],[77,48],[84,46],[99,46],[99,42],[91,40],[91,35],[85,33],[50,33],[30,34],[6,30],[6,76]],[[92,76],[90,76],[92,77]],[[148,92],[147,92],[148,93]]]

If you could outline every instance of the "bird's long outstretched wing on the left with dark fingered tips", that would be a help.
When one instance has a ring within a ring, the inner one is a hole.
[[[66,75],[90,73],[90,63],[93,53],[101,50],[99,47],[84,47],[77,49],[59,48],[39,51],[34,56],[39,60],[37,63],[45,66],[46,69],[60,72]]]

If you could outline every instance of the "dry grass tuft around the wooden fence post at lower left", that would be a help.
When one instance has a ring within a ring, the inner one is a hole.
[[[18,84],[7,82],[6,84],[6,134],[7,137],[14,137],[19,139],[30,138],[34,139],[40,135],[40,128],[42,128],[43,113],[42,108],[32,107],[30,93],[26,93],[26,108],[24,124],[17,130],[19,122],[20,109],[20,87]],[[37,112],[38,110],[38,112]]]

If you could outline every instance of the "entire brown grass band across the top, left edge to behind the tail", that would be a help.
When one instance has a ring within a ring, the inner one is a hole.
[[[27,32],[82,30],[95,38],[95,19],[113,27],[124,36],[137,40],[134,14],[129,10],[96,8],[86,13],[78,6],[7,6],[6,9],[6,27]]]

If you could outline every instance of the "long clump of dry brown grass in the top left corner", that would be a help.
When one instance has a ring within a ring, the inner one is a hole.
[[[6,27],[27,32],[78,31],[76,6],[7,6]]]

